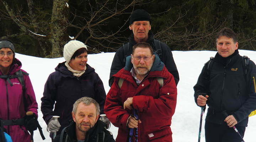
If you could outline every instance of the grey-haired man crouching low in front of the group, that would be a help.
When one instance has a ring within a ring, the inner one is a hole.
[[[115,142],[112,134],[105,129],[106,123],[98,120],[100,106],[91,97],[82,97],[73,105],[73,121],[53,142]]]

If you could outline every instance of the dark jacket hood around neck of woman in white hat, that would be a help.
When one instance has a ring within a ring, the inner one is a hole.
[[[65,65],[66,61],[59,63],[57,67],[55,67],[55,71],[59,71],[63,77],[75,77],[71,71],[68,70],[68,68]],[[86,70],[85,73],[82,74],[82,76],[90,75],[95,71],[94,68],[92,68],[90,65],[86,63]]]

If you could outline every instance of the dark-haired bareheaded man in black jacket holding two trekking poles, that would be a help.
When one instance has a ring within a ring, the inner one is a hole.
[[[249,61],[249,69],[243,69],[245,59],[239,55],[238,40],[229,28],[216,35],[217,53],[211,67],[206,64],[194,86],[194,99],[198,106],[208,105],[206,142],[241,142],[232,128],[243,137],[249,114],[256,109],[256,66]],[[210,71],[207,71],[210,69]],[[209,75],[207,75],[209,74]],[[222,112],[228,112],[225,117]]]

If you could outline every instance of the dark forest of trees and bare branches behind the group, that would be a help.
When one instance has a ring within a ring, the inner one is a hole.
[[[216,51],[216,33],[229,27],[239,49],[256,51],[256,0],[0,0],[0,39],[34,57],[63,57],[71,39],[89,54],[115,52],[136,9],[150,13],[151,32],[171,50]]]

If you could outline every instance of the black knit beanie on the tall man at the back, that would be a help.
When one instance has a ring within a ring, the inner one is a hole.
[[[149,23],[151,24],[151,19],[150,19],[149,13],[146,12],[145,10],[142,10],[142,9],[135,10],[131,14],[131,16],[130,16],[130,25],[134,21],[149,21]]]

